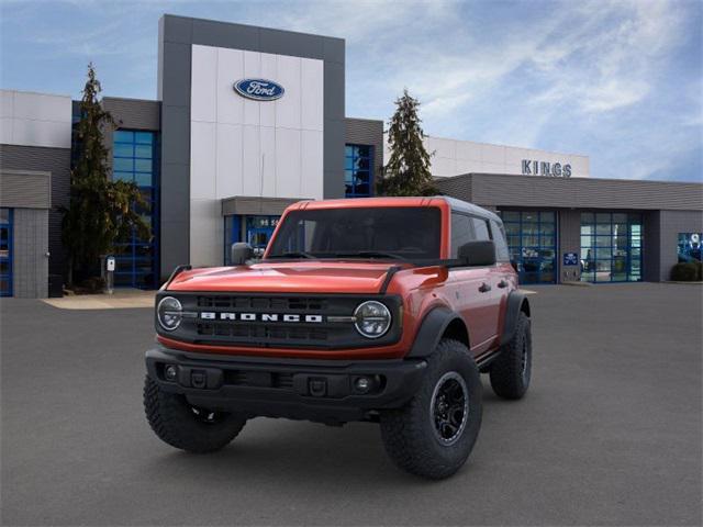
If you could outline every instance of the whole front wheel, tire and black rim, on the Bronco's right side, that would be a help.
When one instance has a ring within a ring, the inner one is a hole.
[[[481,380],[468,348],[439,341],[415,396],[380,414],[381,436],[393,462],[410,473],[444,479],[464,466],[481,427]]]

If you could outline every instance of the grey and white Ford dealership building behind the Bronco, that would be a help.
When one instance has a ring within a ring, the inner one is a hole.
[[[103,99],[113,177],[142,189],[152,226],[115,247],[118,285],[226,264],[234,242],[263,249],[292,202],[373,195],[383,122],[345,115],[344,40],[164,15],[157,75],[155,100]],[[57,208],[79,106],[0,94],[1,293],[46,296],[66,271]],[[426,146],[443,193],[500,212],[524,283],[661,281],[701,257],[701,183],[591,178],[573,154]]]

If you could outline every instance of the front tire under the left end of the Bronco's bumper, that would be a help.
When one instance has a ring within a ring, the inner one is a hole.
[[[160,390],[148,375],[144,382],[144,411],[159,439],[193,453],[214,452],[226,447],[246,424],[246,418],[237,414],[204,415],[204,410],[193,411],[183,395]],[[209,415],[212,415],[212,422],[207,421]]]

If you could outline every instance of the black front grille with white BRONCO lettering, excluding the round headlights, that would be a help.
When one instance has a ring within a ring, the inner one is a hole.
[[[164,332],[157,322],[157,330],[165,337],[192,344],[334,349],[383,346],[400,338],[398,296],[163,291],[156,299],[157,304],[160,298],[167,295],[177,298],[183,312],[190,313],[190,316],[183,317],[174,332]],[[354,310],[369,296],[384,302],[393,313],[391,329],[372,341],[359,335],[350,319]],[[291,316],[295,318],[291,321]]]

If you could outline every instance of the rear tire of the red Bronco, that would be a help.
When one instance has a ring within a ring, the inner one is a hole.
[[[503,345],[501,355],[491,363],[491,386],[495,394],[503,399],[522,399],[529,388],[531,375],[531,322],[521,311],[513,338]]]

